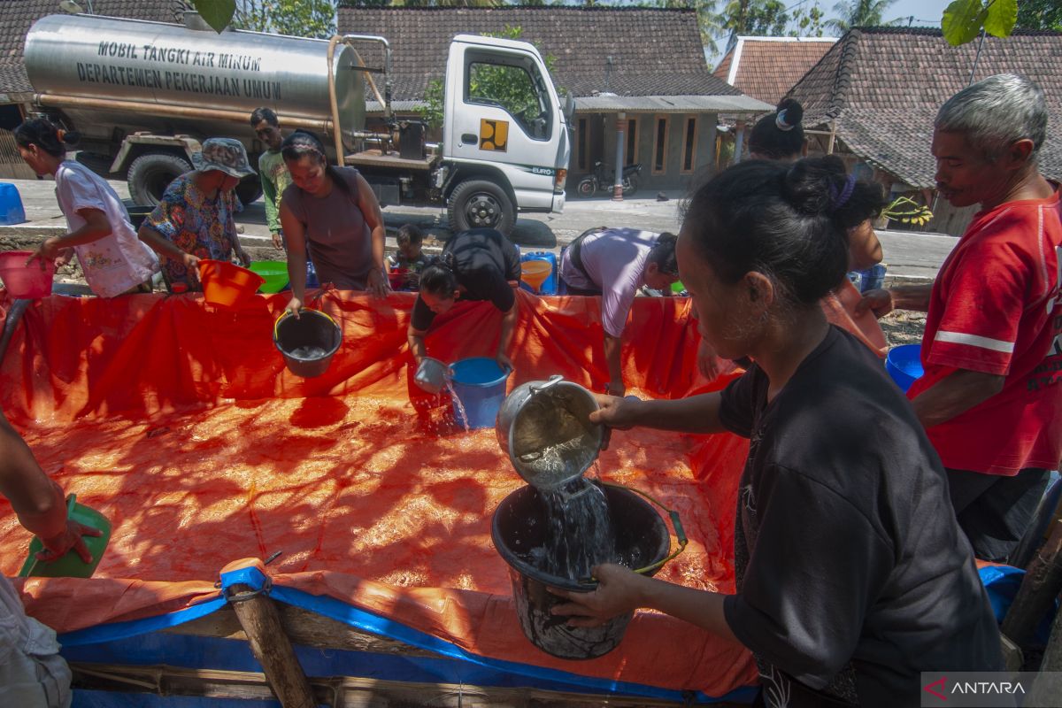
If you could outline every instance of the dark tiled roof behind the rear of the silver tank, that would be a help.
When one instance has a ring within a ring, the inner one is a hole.
[[[81,0],[80,4],[88,7],[86,0]],[[91,4],[97,15],[172,22],[179,3],[174,0],[92,0]],[[62,12],[58,0],[0,0],[0,92],[33,90],[22,64],[25,33],[35,20]]]

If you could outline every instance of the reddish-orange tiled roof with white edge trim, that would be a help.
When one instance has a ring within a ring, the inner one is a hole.
[[[829,37],[738,37],[715,75],[772,106],[829,51]]]

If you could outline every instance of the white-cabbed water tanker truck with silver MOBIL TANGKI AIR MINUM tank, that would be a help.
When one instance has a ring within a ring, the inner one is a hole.
[[[157,203],[170,180],[191,169],[192,153],[208,137],[239,139],[257,166],[264,146],[249,119],[269,106],[286,131],[318,133],[332,158],[361,171],[384,206],[445,205],[455,230],[492,226],[507,234],[517,211],[563,210],[571,104],[562,108],[533,46],[456,36],[443,139],[429,144],[422,123],[393,116],[386,38],[218,34],[191,18],[185,24],[40,18],[25,39],[34,89],[25,111],[81,133],[79,159],[124,175],[143,205]],[[366,66],[363,56],[382,66]],[[367,120],[366,85],[378,114]],[[509,90],[490,96],[497,85]],[[260,194],[257,177],[237,189],[244,203]]]

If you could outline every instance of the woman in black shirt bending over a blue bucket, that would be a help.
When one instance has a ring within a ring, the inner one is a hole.
[[[424,336],[436,314],[449,312],[458,299],[490,300],[503,313],[494,359],[502,368],[512,368],[508,351],[517,316],[513,291],[519,281],[519,249],[501,231],[474,228],[447,241],[442,257],[421,273],[421,292],[407,332],[416,363],[427,356]]]

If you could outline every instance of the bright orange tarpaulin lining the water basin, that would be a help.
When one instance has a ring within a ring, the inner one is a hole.
[[[599,300],[519,298],[510,385],[559,373],[600,390]],[[270,566],[277,583],[482,656],[709,695],[754,680],[744,650],[653,612],[599,659],[535,649],[490,537],[494,508],[524,482],[493,430],[458,430],[445,401],[410,390],[413,296],[327,293],[343,345],[310,380],[273,346],[286,303],[258,296],[234,312],[192,295],[52,296],[30,308],[0,368],[4,409],[44,469],[115,526],[91,580],[24,582],[32,615],[69,632],[172,611],[213,597],[227,563],[284,551]],[[429,353],[486,355],[499,321],[489,304],[459,304],[436,320]],[[687,299],[638,298],[628,341],[632,388],[679,397],[723,383],[696,374]],[[746,451],[732,435],[614,433],[601,477],[678,510],[690,538],[657,577],[733,591]],[[0,570],[13,575],[29,535],[5,501],[0,536]]]

